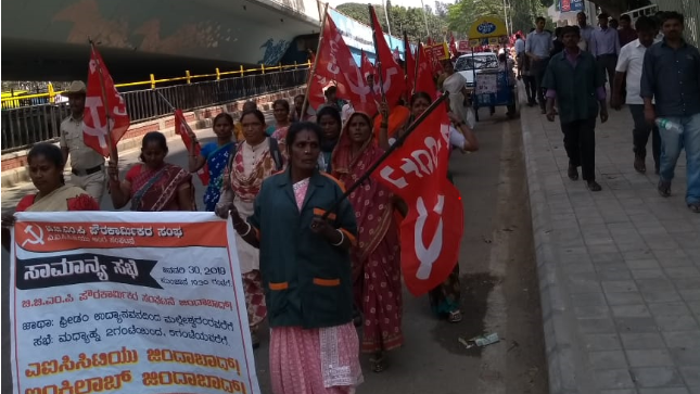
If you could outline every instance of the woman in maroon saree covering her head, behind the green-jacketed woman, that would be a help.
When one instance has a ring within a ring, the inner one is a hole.
[[[384,153],[374,141],[372,122],[362,112],[351,115],[332,155],[333,176],[354,185]],[[404,343],[398,230],[393,209],[397,199],[377,180],[348,196],[357,220],[357,244],[351,250],[355,303],[362,310],[364,353],[374,372],[387,367],[386,351]]]

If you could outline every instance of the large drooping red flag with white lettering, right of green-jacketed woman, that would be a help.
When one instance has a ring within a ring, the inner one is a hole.
[[[400,196],[408,215],[400,224],[406,287],[421,295],[442,283],[459,257],[463,207],[447,180],[449,126],[440,105],[372,174]]]

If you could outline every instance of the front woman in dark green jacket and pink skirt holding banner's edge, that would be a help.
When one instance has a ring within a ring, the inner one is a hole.
[[[290,164],[263,182],[247,221],[219,207],[260,250],[275,394],[351,394],[362,382],[348,254],[357,225],[342,186],[317,168],[321,132],[290,127]]]

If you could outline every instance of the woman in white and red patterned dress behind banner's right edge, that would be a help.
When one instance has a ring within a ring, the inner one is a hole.
[[[217,205],[219,216],[226,216],[226,212],[221,212],[220,207],[228,207],[231,204],[241,215],[253,215],[253,202],[260,191],[263,180],[282,169],[283,166],[277,140],[265,134],[265,115],[257,110],[244,112],[241,115],[241,124],[245,140],[241,142],[225,170],[222,193]],[[236,244],[243,276],[251,338],[253,347],[258,347],[257,329],[267,316],[260,278],[260,255],[257,249],[238,236]]]

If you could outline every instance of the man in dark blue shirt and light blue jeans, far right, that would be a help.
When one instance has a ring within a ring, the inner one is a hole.
[[[641,73],[645,118],[675,124],[661,130],[659,194],[671,195],[680,150],[686,149],[688,208],[700,213],[700,52],[683,39],[683,15],[663,14],[663,40],[647,50]],[[656,100],[656,105],[652,100]]]

